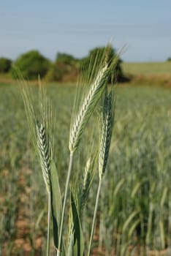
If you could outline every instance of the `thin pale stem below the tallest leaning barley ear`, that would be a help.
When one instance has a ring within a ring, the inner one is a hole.
[[[72,159],[73,159],[73,153],[71,152],[70,158],[69,158],[68,174],[66,177],[66,184],[65,184],[65,194],[64,194],[64,203],[63,203],[62,214],[61,214],[61,225],[60,225],[59,238],[58,238],[57,256],[59,256],[61,254],[62,230],[63,230],[63,226],[64,226],[64,215],[65,215],[66,199],[67,199],[68,188],[69,188],[69,179],[70,179],[71,170],[72,170]]]

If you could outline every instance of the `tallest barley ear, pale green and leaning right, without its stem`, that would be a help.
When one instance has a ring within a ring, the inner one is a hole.
[[[76,150],[80,142],[83,129],[85,128],[88,119],[90,118],[91,113],[93,112],[94,107],[102,94],[102,91],[104,90],[104,87],[107,83],[108,74],[109,69],[106,64],[102,69],[99,70],[99,73],[96,76],[91,89],[88,91],[88,94],[83,101],[83,105],[81,106],[77,116],[75,116],[75,119],[72,122],[69,136],[69,150],[72,153]]]

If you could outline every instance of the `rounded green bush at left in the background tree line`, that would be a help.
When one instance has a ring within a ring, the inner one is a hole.
[[[45,77],[47,70],[50,67],[50,61],[42,56],[38,50],[30,50],[23,53],[14,62],[12,67],[12,75],[15,78],[16,68],[20,70],[21,75],[25,79],[34,80],[40,75],[41,78]]]

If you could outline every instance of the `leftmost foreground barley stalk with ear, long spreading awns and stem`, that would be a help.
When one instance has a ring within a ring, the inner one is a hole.
[[[23,102],[28,119],[28,127],[31,133],[32,142],[36,149],[40,165],[42,168],[42,176],[45,181],[47,190],[48,206],[47,206],[47,256],[50,250],[50,125],[52,119],[52,111],[49,102],[45,98],[45,89],[39,80],[39,108],[38,113],[34,107],[34,97],[28,84],[24,81],[20,82]],[[37,119],[39,121],[37,121]],[[48,132],[48,134],[47,134]]]

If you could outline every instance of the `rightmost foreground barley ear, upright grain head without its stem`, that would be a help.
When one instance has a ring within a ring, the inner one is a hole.
[[[104,99],[99,115],[99,178],[102,179],[107,165],[110,150],[110,141],[114,121],[114,94],[113,89],[108,94],[104,91]]]

